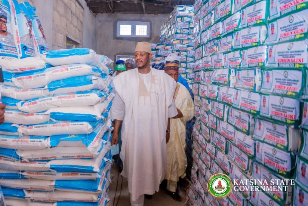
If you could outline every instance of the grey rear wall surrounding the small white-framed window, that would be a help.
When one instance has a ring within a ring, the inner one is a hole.
[[[97,53],[109,55],[133,55],[138,41],[159,43],[160,26],[168,14],[97,14]],[[117,38],[117,21],[150,22],[150,38]]]

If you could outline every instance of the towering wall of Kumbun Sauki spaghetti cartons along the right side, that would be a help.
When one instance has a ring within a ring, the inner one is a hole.
[[[195,2],[190,205],[308,204],[307,4]],[[295,177],[295,185],[285,194],[233,191],[215,199],[207,183],[216,173],[232,181]]]

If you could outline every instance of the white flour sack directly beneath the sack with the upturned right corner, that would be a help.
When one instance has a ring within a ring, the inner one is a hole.
[[[23,135],[36,135],[36,136],[51,136],[51,135],[71,135],[71,134],[90,134],[100,124],[102,120],[97,122],[85,121],[48,121],[42,124],[33,125],[20,125],[18,132]]]

